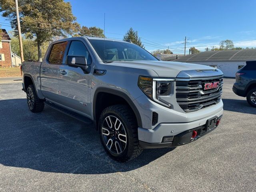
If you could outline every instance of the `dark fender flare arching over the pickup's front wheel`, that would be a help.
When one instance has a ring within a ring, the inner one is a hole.
[[[92,106],[93,107],[94,125],[97,124],[97,122],[96,122],[96,98],[97,98],[97,96],[100,92],[113,94],[113,95],[116,95],[116,96],[119,96],[119,97],[123,98],[128,103],[130,108],[132,108],[132,111],[134,112],[134,114],[136,116],[138,126],[142,127],[142,120],[141,120],[141,117],[140,117],[140,113],[139,113],[138,109],[136,108],[136,106],[134,105],[134,103],[132,102],[132,100],[125,93],[123,93],[121,91],[118,91],[118,90],[110,89],[110,88],[98,88],[94,92],[93,106]]]

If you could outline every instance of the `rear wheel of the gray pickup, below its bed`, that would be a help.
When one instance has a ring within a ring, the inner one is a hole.
[[[34,85],[29,85],[26,93],[29,110],[33,113],[41,112],[44,109],[44,102],[38,98]]]

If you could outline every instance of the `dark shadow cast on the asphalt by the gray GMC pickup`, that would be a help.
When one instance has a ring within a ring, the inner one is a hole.
[[[34,114],[26,99],[0,100],[0,163],[43,172],[104,174],[126,172],[149,164],[174,148],[144,150],[120,163],[103,150],[98,132],[45,106]]]

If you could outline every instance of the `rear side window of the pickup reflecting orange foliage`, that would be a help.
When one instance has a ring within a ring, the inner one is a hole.
[[[52,64],[61,64],[67,44],[67,41],[54,44],[52,46],[48,61]]]

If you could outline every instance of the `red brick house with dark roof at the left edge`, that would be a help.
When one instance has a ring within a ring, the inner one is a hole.
[[[12,66],[11,38],[5,29],[0,29],[2,39],[0,41],[0,67]]]

